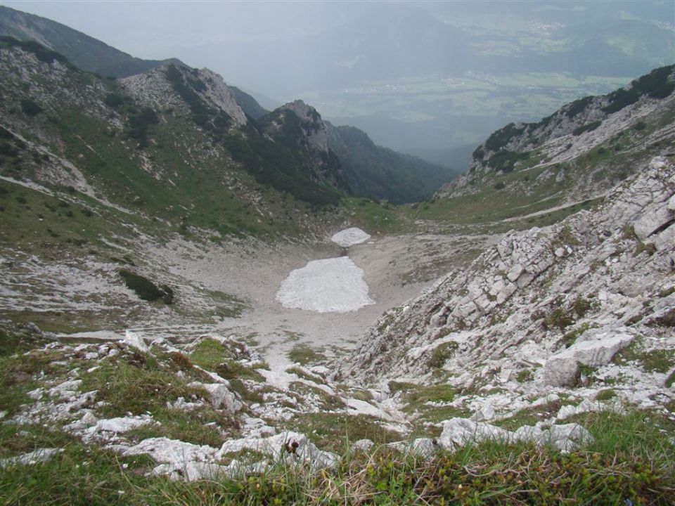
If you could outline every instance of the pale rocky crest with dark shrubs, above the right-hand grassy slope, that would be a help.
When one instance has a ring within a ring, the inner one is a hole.
[[[645,121],[649,122],[652,115],[673,108],[674,80],[674,67],[662,67],[608,95],[580,98],[538,123],[508,124],[478,146],[469,170],[444,185],[435,197],[477,193],[489,174],[508,173],[521,166],[532,171],[539,167],[556,169],[560,164],[586,155],[598,146],[616,141],[630,128],[638,131],[644,129]],[[641,157],[639,162],[646,162],[654,153],[641,152],[663,141],[667,144],[674,134],[672,122],[667,121],[633,145],[629,143],[620,148],[612,145],[611,148],[626,154],[632,153]],[[528,158],[535,162],[528,163]],[[581,195],[602,195],[619,181],[612,177],[593,177],[592,171],[591,174],[584,174],[584,170],[574,172],[577,184],[570,193],[577,198]],[[564,177],[565,174],[557,175],[558,179]],[[589,188],[592,188],[593,193],[589,193]]]

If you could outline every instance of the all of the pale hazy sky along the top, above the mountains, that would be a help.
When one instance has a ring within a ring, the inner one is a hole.
[[[0,4],[68,25],[139,58],[181,57],[182,48],[214,41],[279,39],[319,33],[383,3],[413,4],[446,22],[532,9],[532,1],[148,1],[0,0]],[[608,6],[675,24],[667,1],[547,1],[542,10]],[[666,8],[664,8],[666,6]],[[202,65],[186,61],[188,65]]]

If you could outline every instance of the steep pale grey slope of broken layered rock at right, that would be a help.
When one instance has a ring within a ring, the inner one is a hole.
[[[658,157],[637,171],[598,209],[508,233],[468,271],[385,313],[338,377],[446,378],[473,388],[465,401],[474,406],[486,402],[481,389],[499,387],[503,410],[556,389],[583,386],[592,397],[609,384],[638,404],[672,400],[675,165]],[[632,363],[615,355],[629,345]],[[660,367],[645,365],[659,354],[669,357]],[[581,373],[593,382],[582,385]]]

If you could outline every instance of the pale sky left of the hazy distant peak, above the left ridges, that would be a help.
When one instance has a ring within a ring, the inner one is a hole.
[[[366,2],[319,1],[35,1],[8,7],[68,25],[139,58],[179,56],[182,46],[276,39],[321,32]],[[190,62],[187,62],[190,63]]]

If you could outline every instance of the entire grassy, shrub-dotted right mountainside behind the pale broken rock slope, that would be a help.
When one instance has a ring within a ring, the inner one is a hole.
[[[671,153],[674,69],[661,67],[624,89],[581,98],[540,122],[495,131],[474,151],[468,172],[413,216],[532,226],[593,205],[651,157]]]

